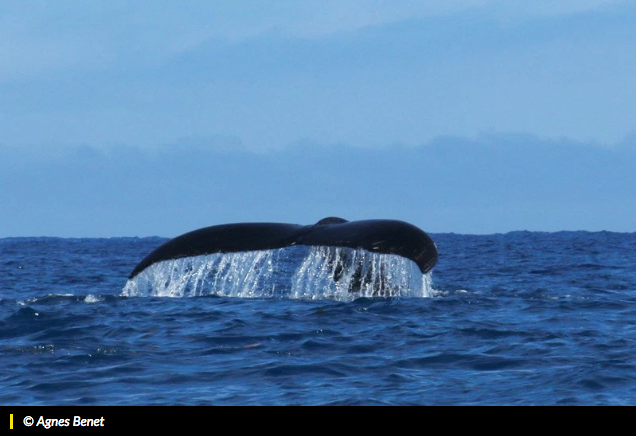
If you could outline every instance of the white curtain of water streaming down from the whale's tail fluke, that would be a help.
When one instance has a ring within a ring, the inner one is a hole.
[[[288,247],[156,263],[124,296],[335,299],[430,297],[430,274],[396,255],[341,247]]]

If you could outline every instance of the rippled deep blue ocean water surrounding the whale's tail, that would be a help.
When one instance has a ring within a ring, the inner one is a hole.
[[[351,299],[130,292],[164,239],[0,239],[0,404],[636,405],[636,234],[432,237],[424,292]]]

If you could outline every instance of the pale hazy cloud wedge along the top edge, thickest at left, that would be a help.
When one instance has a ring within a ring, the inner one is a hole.
[[[495,22],[613,10],[620,0],[323,0],[86,2],[6,0],[0,6],[0,81],[62,71],[157,65],[202,43],[322,38],[407,21],[477,16]]]

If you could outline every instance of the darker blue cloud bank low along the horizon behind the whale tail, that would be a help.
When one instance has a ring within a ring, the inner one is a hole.
[[[269,153],[231,137],[154,150],[0,145],[0,237],[174,236],[331,215],[403,219],[430,232],[633,232],[634,168],[636,136],[614,147],[482,135]]]

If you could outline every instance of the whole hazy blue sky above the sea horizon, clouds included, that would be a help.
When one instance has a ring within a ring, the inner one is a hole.
[[[4,0],[0,237],[636,231],[636,2]]]

